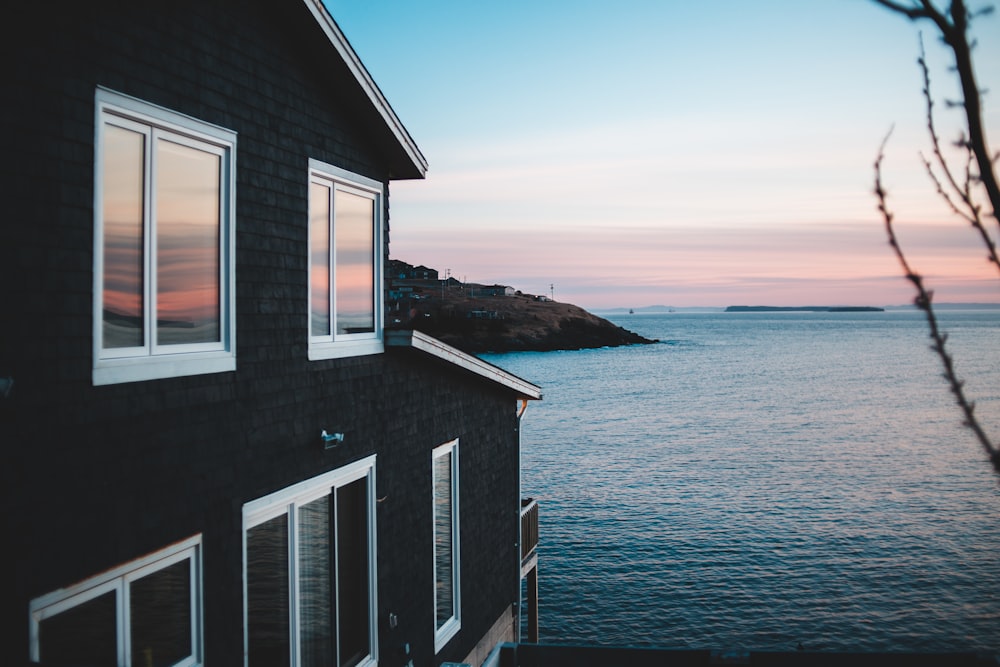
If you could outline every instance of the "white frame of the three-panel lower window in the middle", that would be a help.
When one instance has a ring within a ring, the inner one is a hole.
[[[314,500],[330,495],[338,487],[367,478],[366,509],[368,512],[368,655],[357,667],[374,667],[378,664],[378,566],[375,525],[375,459],[376,455],[331,470],[317,477],[294,484],[270,495],[258,498],[243,506],[243,663],[249,660],[249,595],[247,590],[247,532],[270,519],[285,515],[288,517],[289,545],[289,629],[291,640],[290,664],[296,667],[301,662],[298,642],[298,600],[299,581],[296,576],[298,563],[298,540],[292,537],[297,532],[296,514],[298,508]]]

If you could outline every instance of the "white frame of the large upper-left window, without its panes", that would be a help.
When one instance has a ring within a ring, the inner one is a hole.
[[[143,290],[145,339],[140,347],[105,349],[104,335],[104,220],[103,167],[106,125],[126,128],[146,137],[143,174],[144,255]],[[219,193],[219,342],[156,346],[154,279],[155,230],[152,228],[150,150],[156,138],[220,157]],[[191,118],[134,97],[98,88],[95,94],[94,142],[94,385],[137,382],[185,375],[201,375],[236,370],[236,133]],[[152,259],[151,259],[152,258]]]

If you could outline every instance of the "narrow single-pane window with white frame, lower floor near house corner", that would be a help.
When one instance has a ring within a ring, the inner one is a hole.
[[[440,651],[462,627],[458,535],[458,440],[435,448],[434,489],[434,650]]]

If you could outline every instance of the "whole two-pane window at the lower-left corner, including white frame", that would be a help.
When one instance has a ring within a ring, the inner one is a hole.
[[[201,537],[32,600],[31,660],[201,665]]]

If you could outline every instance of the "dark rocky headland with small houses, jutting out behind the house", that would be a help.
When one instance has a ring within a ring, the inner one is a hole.
[[[389,328],[414,329],[469,354],[639,345],[644,338],[579,306],[507,285],[440,279],[389,260]]]

